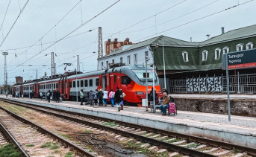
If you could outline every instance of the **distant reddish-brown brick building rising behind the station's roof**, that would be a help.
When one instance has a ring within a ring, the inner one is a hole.
[[[118,51],[122,49],[125,45],[132,45],[132,42],[129,41],[129,38],[126,38],[123,42],[118,42],[117,38],[114,39],[113,42],[111,42],[111,39],[107,39],[107,41],[104,43],[105,45],[105,55],[108,55],[112,52]]]

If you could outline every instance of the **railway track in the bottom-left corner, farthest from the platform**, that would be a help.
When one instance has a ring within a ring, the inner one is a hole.
[[[13,135],[16,143],[20,144],[25,156],[65,156],[75,153],[75,156],[95,157],[87,150],[3,108],[0,110],[0,122]]]

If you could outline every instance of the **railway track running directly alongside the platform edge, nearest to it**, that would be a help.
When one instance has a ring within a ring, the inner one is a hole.
[[[4,101],[14,103],[8,100]],[[74,121],[78,124],[93,126],[94,128],[102,129],[102,131],[113,132],[113,137],[119,138],[120,141],[131,140],[132,137],[138,140],[136,143],[140,147],[147,147],[150,150],[162,152],[166,150],[172,151],[169,156],[177,156],[180,154],[185,156],[256,156],[255,149],[240,147],[221,141],[182,135],[175,132],[157,130],[146,126],[107,120],[105,118],[81,115],[74,112],[63,112],[59,110],[52,111],[52,109],[29,106],[25,103],[16,103],[16,105],[29,107],[40,112],[65,118],[67,121]],[[144,144],[140,145],[140,141],[143,141]],[[160,150],[158,149],[159,147],[161,148]],[[238,153],[238,151],[241,153]]]

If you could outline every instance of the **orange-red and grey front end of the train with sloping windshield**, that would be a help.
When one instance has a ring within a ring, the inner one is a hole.
[[[124,100],[128,103],[133,103],[137,106],[142,106],[142,99],[146,99],[146,75],[148,84],[148,94],[152,91],[153,87],[153,74],[154,74],[154,89],[158,97],[163,97],[160,92],[160,84],[157,74],[153,73],[152,67],[144,65],[129,65],[121,68],[121,86],[126,96]]]

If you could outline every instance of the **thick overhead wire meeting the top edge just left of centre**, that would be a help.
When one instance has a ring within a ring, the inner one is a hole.
[[[67,36],[69,36],[70,34],[74,33],[75,31],[78,31],[78,29],[82,28],[84,25],[87,25],[87,23],[89,23],[90,21],[92,21],[93,19],[96,19],[96,17],[98,17],[99,15],[101,15],[102,13],[104,13],[106,10],[108,10],[110,7],[113,7],[113,5],[115,5],[116,3],[118,3],[121,0],[118,0],[116,2],[114,2],[113,4],[111,4],[109,7],[107,7],[106,9],[102,10],[102,12],[98,13],[96,16],[93,16],[93,18],[87,20],[87,22],[84,22],[83,24],[79,25],[78,28],[75,28],[75,30],[69,32],[66,34],[66,36],[63,36],[62,38],[58,39],[56,42],[54,42],[53,44],[49,45],[47,48],[43,49],[43,51],[46,51],[48,48],[51,48],[51,46],[57,44],[58,42],[60,42],[61,40],[63,40],[64,38],[66,38]],[[38,54],[41,54],[43,51],[40,51],[39,53],[35,54],[33,57],[29,58],[28,60],[26,60],[24,63],[28,62],[29,60],[33,59],[34,57],[36,57]],[[24,64],[23,63],[23,64]]]

